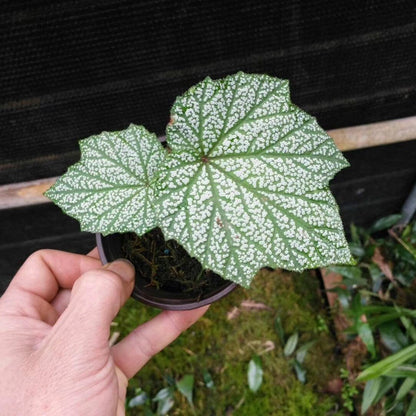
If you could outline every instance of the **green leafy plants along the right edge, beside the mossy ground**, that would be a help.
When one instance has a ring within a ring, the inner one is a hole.
[[[416,222],[399,230],[399,220],[391,215],[369,229],[352,225],[357,265],[332,267],[344,276],[345,288],[337,291],[352,321],[348,332],[358,334],[371,355],[357,378],[366,382],[362,414],[370,408],[416,414]]]

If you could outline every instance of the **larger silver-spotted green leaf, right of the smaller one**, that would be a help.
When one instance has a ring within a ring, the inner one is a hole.
[[[263,266],[349,263],[328,182],[348,162],[285,80],[237,73],[178,97],[157,209],[167,239],[248,286]]]

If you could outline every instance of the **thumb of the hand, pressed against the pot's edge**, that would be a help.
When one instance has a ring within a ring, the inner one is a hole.
[[[73,339],[107,343],[111,322],[133,290],[134,275],[134,266],[125,259],[84,273],[56,326]]]

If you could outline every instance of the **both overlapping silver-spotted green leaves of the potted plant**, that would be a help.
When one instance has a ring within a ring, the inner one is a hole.
[[[134,125],[92,136],[47,196],[85,231],[141,235],[159,226],[243,286],[263,266],[351,262],[328,188],[348,162],[292,104],[287,81],[206,78],[175,101],[166,140],[168,150]]]

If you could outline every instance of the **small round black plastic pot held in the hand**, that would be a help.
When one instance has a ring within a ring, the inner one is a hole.
[[[96,234],[98,252],[103,264],[123,257],[121,250],[122,235],[111,234],[103,236]],[[238,285],[224,280],[219,288],[198,298],[190,297],[186,293],[168,292],[149,286],[148,282],[136,275],[132,298],[159,309],[184,311],[196,309],[213,303],[232,292]]]

